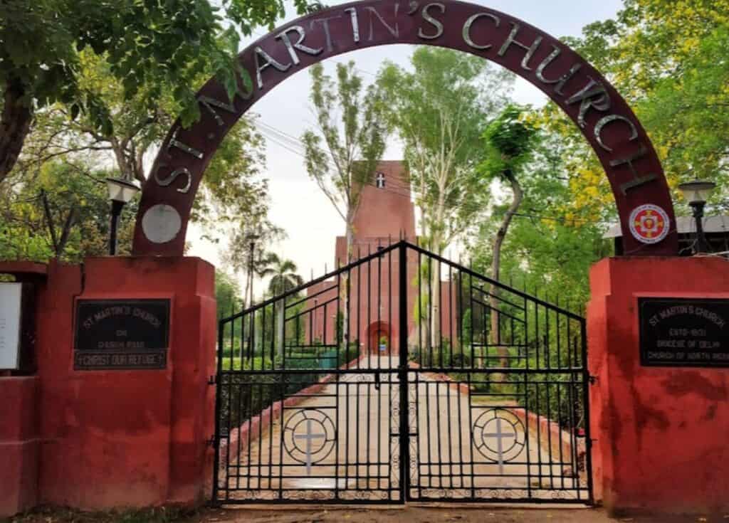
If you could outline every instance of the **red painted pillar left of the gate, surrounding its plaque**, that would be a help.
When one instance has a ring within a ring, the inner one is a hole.
[[[78,298],[171,298],[167,369],[74,371]],[[214,267],[200,259],[51,264],[39,291],[38,387],[28,409],[38,420],[38,503],[112,508],[206,499],[215,329]],[[13,386],[0,378],[0,396]],[[0,506],[0,514],[7,510]]]

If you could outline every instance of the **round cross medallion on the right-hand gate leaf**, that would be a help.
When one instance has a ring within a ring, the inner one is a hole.
[[[473,443],[487,460],[503,465],[518,457],[526,446],[524,425],[507,409],[489,409],[473,424]]]

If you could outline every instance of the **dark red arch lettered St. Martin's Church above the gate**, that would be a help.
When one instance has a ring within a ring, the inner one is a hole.
[[[577,53],[532,25],[475,4],[366,0],[301,17],[244,50],[238,58],[252,86],[239,80],[233,101],[216,80],[203,86],[202,118],[187,129],[173,125],[144,184],[133,253],[182,256],[208,162],[230,127],[272,87],[313,63],[386,44],[470,52],[534,84],[572,118],[598,155],[615,195],[625,253],[678,252],[671,194],[650,139],[615,88]]]

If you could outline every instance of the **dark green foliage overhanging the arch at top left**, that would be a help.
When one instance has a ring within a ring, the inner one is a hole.
[[[308,9],[305,0],[295,7]],[[17,161],[34,113],[53,103],[71,118],[85,113],[111,134],[98,95],[79,82],[79,52],[103,57],[123,98],[141,95],[149,111],[171,93],[183,125],[200,116],[195,82],[212,71],[231,98],[243,74],[239,34],[273,26],[282,0],[6,0],[0,20],[0,182]]]

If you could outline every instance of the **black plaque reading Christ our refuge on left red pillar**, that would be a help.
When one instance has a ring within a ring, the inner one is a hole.
[[[164,369],[169,299],[79,299],[74,369]]]

